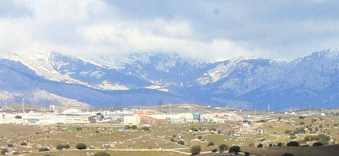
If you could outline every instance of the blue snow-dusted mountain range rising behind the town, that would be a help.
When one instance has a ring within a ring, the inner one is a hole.
[[[327,49],[297,59],[201,62],[161,53],[94,58],[0,53],[0,95],[13,102],[25,95],[35,103],[86,106],[189,102],[255,109],[270,105],[271,110],[336,107],[338,54]]]

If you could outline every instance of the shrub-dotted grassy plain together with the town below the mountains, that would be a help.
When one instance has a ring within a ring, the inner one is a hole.
[[[339,147],[338,109],[26,107],[0,108],[3,155],[336,155]]]

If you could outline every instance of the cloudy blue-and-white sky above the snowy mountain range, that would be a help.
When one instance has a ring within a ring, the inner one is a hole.
[[[338,8],[326,0],[0,0],[0,51],[296,58],[339,48]]]

